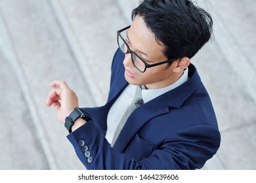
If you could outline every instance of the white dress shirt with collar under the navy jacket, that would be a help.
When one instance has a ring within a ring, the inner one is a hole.
[[[175,83],[171,84],[170,86],[167,86],[165,88],[159,88],[159,89],[150,89],[150,90],[143,89],[142,99],[144,103],[147,103],[148,101],[151,101],[152,99],[162,95],[163,93],[169,92],[174,88],[181,86],[181,84],[183,84],[187,80],[188,80],[188,68],[184,70],[184,73],[179,78],[179,80],[177,80]],[[112,142],[117,125],[119,124],[121,118],[123,117],[123,114],[125,114],[125,111],[131,104],[131,101],[133,101],[136,88],[137,86],[129,84],[125,88],[125,90],[123,90],[123,92],[118,97],[118,99],[116,99],[116,102],[112,105],[112,107],[110,108],[110,111],[108,112],[108,117],[107,117],[108,129],[106,131],[106,139],[110,143]]]

